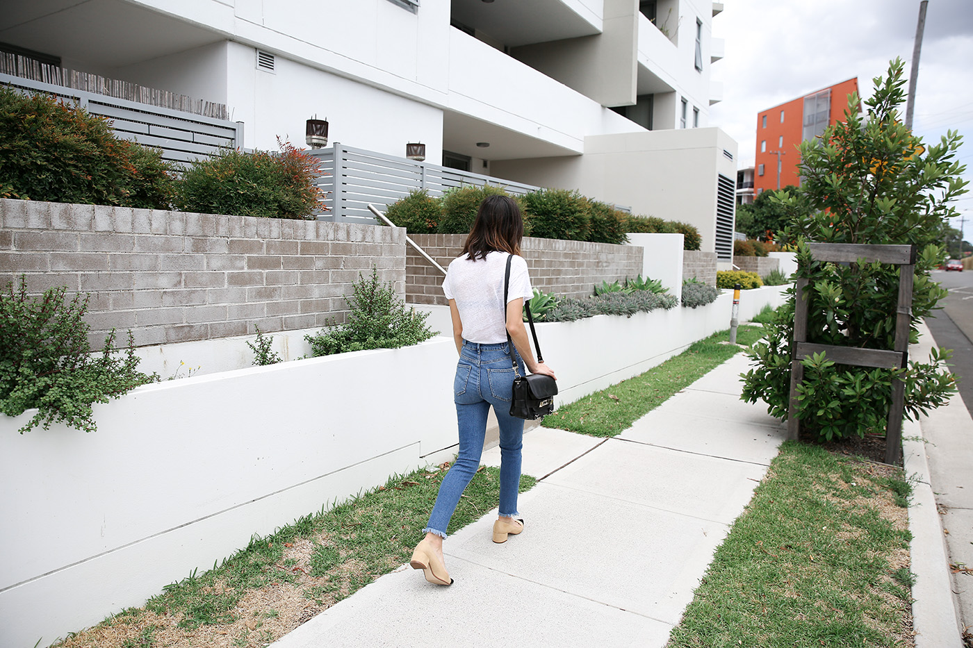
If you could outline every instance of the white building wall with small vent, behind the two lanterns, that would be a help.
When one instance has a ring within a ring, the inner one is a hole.
[[[385,1],[385,4],[395,8]],[[229,105],[245,123],[246,146],[276,150],[276,137],[305,145],[305,122],[327,118],[328,141],[405,157],[421,141],[426,157],[443,151],[443,111],[419,101],[278,55],[274,72],[258,69],[251,47],[231,43]]]

